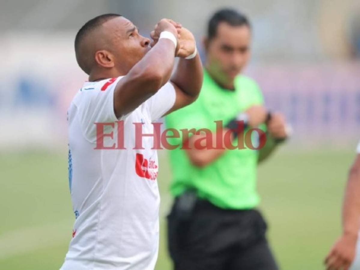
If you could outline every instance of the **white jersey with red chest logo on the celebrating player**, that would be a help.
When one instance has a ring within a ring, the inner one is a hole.
[[[117,119],[114,89],[122,77],[86,82],[68,110],[69,184],[76,216],[73,238],[61,270],[154,269],[159,241],[158,158],[153,137],[134,150],[135,125],[153,133],[153,121],[175,103],[166,83],[131,113]],[[96,148],[95,123],[108,123],[105,147],[116,146],[123,121],[126,149]],[[111,134],[112,138],[109,135]]]

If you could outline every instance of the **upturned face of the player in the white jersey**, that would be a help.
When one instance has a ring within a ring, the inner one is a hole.
[[[139,34],[139,29],[130,20],[117,17],[108,22],[111,33],[111,52],[115,67],[129,71],[150,50],[150,40]]]

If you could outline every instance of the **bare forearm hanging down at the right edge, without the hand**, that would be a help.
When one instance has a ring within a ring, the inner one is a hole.
[[[358,158],[359,159],[359,158]],[[355,161],[346,185],[343,203],[343,233],[357,237],[360,228],[360,164]]]

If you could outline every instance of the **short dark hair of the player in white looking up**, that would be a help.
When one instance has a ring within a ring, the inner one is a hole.
[[[102,26],[103,23],[115,17],[121,17],[121,15],[116,13],[107,13],[96,16],[95,18],[86,22],[77,32],[74,42],[75,55],[76,55],[77,63],[79,64],[80,68],[84,70],[85,73],[89,74],[91,71],[90,70],[91,67],[88,67],[88,65],[86,64],[86,60],[84,59],[85,57],[80,54],[80,50],[81,50],[80,45],[82,41],[85,39],[87,35],[89,35],[96,28]]]

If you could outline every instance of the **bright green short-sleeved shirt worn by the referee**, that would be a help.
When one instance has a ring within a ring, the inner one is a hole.
[[[235,78],[235,91],[229,91],[215,83],[204,70],[198,99],[166,116],[166,126],[177,130],[208,128],[215,131],[214,121],[222,120],[226,124],[241,111],[263,102],[262,93],[252,79],[238,75]],[[181,141],[181,137],[168,139],[172,145],[181,145]],[[174,177],[171,193],[174,196],[195,188],[198,197],[221,208],[250,209],[258,205],[256,150],[225,150],[222,156],[203,168],[192,165],[185,150],[180,147],[169,152]]]

